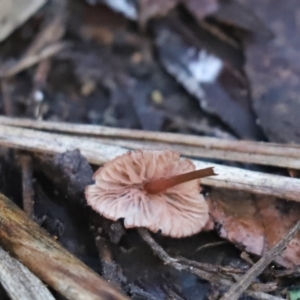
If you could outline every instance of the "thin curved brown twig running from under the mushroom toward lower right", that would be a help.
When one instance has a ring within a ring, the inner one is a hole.
[[[227,287],[232,285],[232,281],[228,280],[227,278],[221,277],[218,273],[208,272],[207,268],[206,268],[206,270],[203,270],[200,268],[191,267],[191,264],[181,263],[181,261],[183,261],[183,260],[178,260],[178,259],[172,258],[171,256],[169,256],[168,253],[166,253],[166,251],[160,245],[158,245],[156,243],[156,241],[152,238],[152,236],[150,235],[150,233],[148,232],[147,229],[138,228],[138,232],[139,232],[140,236],[143,238],[143,240],[151,247],[153,252],[165,264],[172,266],[173,268],[175,268],[178,271],[184,270],[186,272],[192,273],[192,274],[199,276],[200,278],[205,279],[214,284],[220,284],[220,285],[227,286]],[[198,266],[200,266],[200,264]],[[248,291],[246,291],[246,293],[247,293],[247,295],[255,297],[260,300],[283,300],[282,298],[268,295],[263,292],[255,292],[255,291],[248,290]]]

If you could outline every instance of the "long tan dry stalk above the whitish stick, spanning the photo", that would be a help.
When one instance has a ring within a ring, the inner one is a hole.
[[[113,138],[107,142],[117,142],[129,148],[172,146],[184,155],[232,160],[300,169],[300,146],[252,141],[221,140],[211,137],[199,137],[174,133],[161,133],[132,129],[111,128],[95,125],[34,121],[0,117],[1,124],[28,128],[69,132],[85,136]],[[118,138],[116,140],[116,138]],[[142,143],[141,143],[142,142]],[[147,143],[145,143],[147,142]]]

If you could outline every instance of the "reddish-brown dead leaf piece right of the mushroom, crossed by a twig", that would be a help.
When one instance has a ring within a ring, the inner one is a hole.
[[[258,256],[270,250],[300,218],[298,203],[270,196],[213,189],[208,203],[219,235]],[[287,268],[299,265],[299,245],[298,233],[275,262]]]

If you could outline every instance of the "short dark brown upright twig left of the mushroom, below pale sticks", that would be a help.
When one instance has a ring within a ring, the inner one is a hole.
[[[33,218],[33,188],[32,188],[32,160],[29,155],[21,154],[20,165],[22,168],[23,209],[29,218]]]

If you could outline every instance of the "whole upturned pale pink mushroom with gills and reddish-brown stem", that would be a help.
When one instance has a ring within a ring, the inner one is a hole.
[[[181,238],[198,233],[208,220],[199,178],[211,175],[212,168],[195,171],[191,160],[171,150],[129,151],[99,168],[85,195],[104,217],[124,218],[126,228]]]

